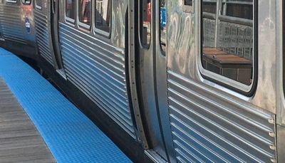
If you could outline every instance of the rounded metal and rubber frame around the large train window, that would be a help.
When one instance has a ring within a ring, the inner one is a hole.
[[[227,78],[223,75],[219,75],[217,73],[214,73],[210,70],[207,70],[202,65],[202,39],[203,39],[203,23],[202,23],[202,3],[203,1],[200,1],[199,3],[199,36],[198,36],[198,68],[199,73],[202,75],[202,81],[204,83],[215,83],[217,85],[220,85],[224,88],[228,88],[229,90],[234,90],[237,93],[241,93],[242,95],[246,95],[247,97],[251,97],[254,95],[254,92],[257,88],[257,76],[258,76],[258,1],[253,0],[253,48],[252,48],[252,83],[251,85],[246,85],[243,83],[240,83],[236,80],[232,80],[230,78]],[[205,81],[209,80],[209,82]],[[213,86],[213,84],[211,84]],[[219,87],[219,86],[217,86]]]

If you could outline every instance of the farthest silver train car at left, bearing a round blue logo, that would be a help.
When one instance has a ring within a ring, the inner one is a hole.
[[[26,58],[35,59],[36,32],[31,0],[0,1],[0,45]]]

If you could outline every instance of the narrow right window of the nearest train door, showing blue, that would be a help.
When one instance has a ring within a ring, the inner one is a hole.
[[[165,0],[160,0],[160,46],[166,50],[166,8]]]

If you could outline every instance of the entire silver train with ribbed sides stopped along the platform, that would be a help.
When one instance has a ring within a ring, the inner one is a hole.
[[[284,162],[284,6],[1,0],[0,44],[134,162]]]

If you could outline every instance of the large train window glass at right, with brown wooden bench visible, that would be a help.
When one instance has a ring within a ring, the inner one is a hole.
[[[251,85],[254,72],[253,0],[203,0],[201,11],[203,68]]]

